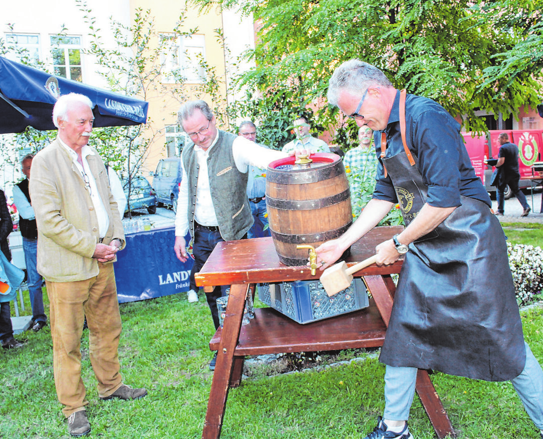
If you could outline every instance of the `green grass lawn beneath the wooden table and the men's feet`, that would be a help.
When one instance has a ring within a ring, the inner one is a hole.
[[[540,225],[504,224],[504,230],[513,243],[543,243]],[[186,294],[181,293],[121,305],[119,358],[123,379],[149,391],[146,398],[134,402],[98,399],[85,330],[81,340],[82,376],[92,426],[87,437],[201,437],[212,379],[208,368],[212,354],[207,343],[213,325],[203,292],[199,296],[198,303],[188,303]],[[26,298],[28,301],[28,294]],[[29,303],[26,309],[28,313]],[[526,339],[542,362],[543,310],[524,311],[522,320]],[[0,349],[0,438],[69,437],[56,400],[49,327],[16,338],[26,340],[26,345],[16,351]],[[244,379],[240,387],[230,390],[221,438],[365,436],[384,407],[384,366],[375,352],[352,351],[343,358],[354,356],[362,360]],[[433,374],[432,379],[459,438],[539,438],[510,383],[486,383],[441,373]],[[416,439],[435,437],[417,397],[409,429]]]

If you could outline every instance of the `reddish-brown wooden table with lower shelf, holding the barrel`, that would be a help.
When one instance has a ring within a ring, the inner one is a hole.
[[[346,262],[350,266],[374,255],[377,244],[401,230],[399,226],[374,228],[352,245],[351,256]],[[274,309],[257,308],[255,319],[242,326],[245,297],[251,292],[254,294],[255,284],[318,279],[321,271],[317,270],[312,276],[308,266],[283,265],[271,238],[217,244],[195,275],[196,283],[204,289],[231,285],[223,328],[218,328],[210,341],[210,349],[218,351],[218,355],[202,438],[220,437],[228,391],[241,383],[245,355],[382,346],[395,291],[390,275],[399,273],[401,265],[402,259],[389,266],[371,265],[354,274],[363,277],[371,293],[368,308],[305,325]],[[427,371],[419,370],[416,392],[438,438],[456,437]]]

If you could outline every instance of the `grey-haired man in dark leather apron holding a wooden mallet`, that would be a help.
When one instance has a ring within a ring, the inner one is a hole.
[[[343,236],[317,249],[321,270],[399,203],[406,228],[376,247],[405,261],[381,349],[385,409],[366,439],[411,439],[417,369],[513,383],[543,439],[543,372],[524,341],[506,239],[460,125],[431,99],[396,90],[376,67],[344,62],[328,100],[374,130],[375,192]],[[482,282],[481,273],[492,282]]]

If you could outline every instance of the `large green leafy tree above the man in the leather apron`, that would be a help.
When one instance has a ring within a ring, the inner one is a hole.
[[[508,4],[514,9],[514,0]],[[434,99],[453,116],[464,115],[466,129],[484,129],[475,110],[507,117],[537,100],[533,80],[522,74],[500,81],[496,99],[496,85],[485,82],[484,74],[513,53],[526,26],[509,20],[496,29],[490,16],[482,19],[487,12],[477,14],[470,1],[229,0],[222,5],[242,5],[260,25],[256,48],[246,54],[256,67],[238,81],[249,90],[288,91],[292,101],[308,105],[325,96],[340,62],[359,58],[381,68],[395,87]],[[337,128],[336,109],[321,104],[316,115],[320,125]],[[348,141],[353,131],[343,120],[337,140]]]

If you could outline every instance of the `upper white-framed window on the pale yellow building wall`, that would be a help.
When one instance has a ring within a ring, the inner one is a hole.
[[[180,76],[185,78],[185,84],[205,82],[205,69],[200,66],[200,60],[206,60],[205,35],[162,34],[161,38],[164,44],[160,55],[162,82],[175,84]]]

